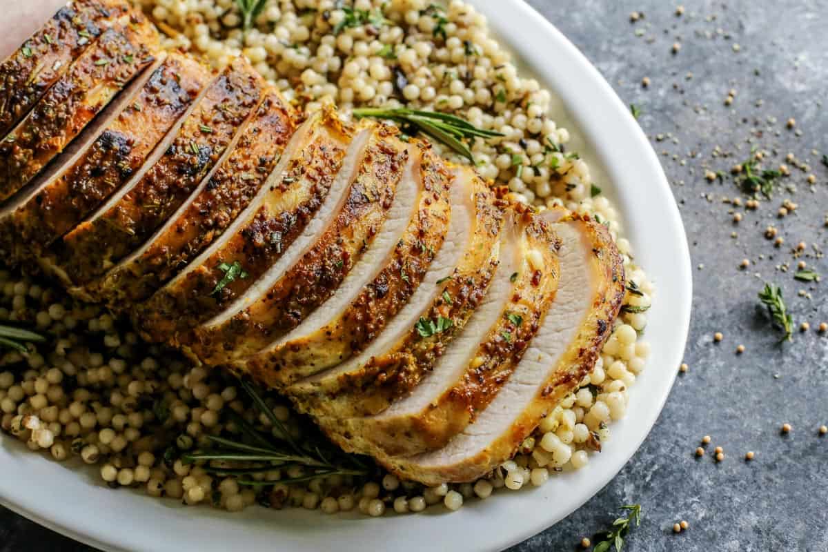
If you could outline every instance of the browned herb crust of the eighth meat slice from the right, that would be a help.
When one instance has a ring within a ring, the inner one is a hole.
[[[262,84],[248,61],[233,60],[132,190],[55,244],[59,265],[75,286],[103,275],[181,206],[253,112]]]

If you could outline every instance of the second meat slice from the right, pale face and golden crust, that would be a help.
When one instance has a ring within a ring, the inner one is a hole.
[[[510,214],[484,300],[409,395],[378,415],[340,421],[351,449],[403,456],[440,449],[508,381],[555,297],[559,274],[548,225],[527,212]]]

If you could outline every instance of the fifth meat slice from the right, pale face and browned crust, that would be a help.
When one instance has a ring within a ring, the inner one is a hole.
[[[256,353],[334,295],[363,254],[382,255],[388,234],[396,233],[394,223],[386,223],[411,155],[393,127],[368,126],[362,160],[352,173],[340,171],[302,237],[247,294],[195,329],[190,349],[203,362],[215,365]],[[402,200],[411,202],[412,195]]]

